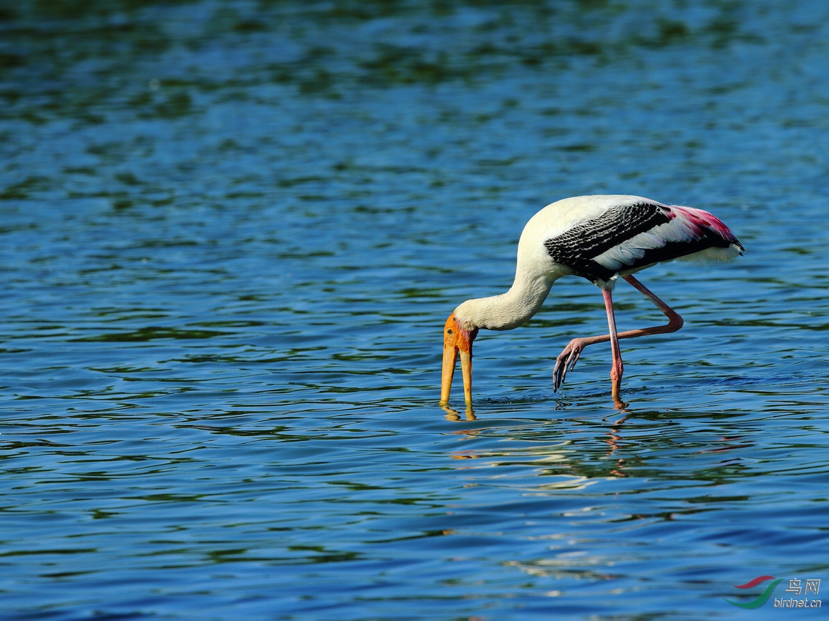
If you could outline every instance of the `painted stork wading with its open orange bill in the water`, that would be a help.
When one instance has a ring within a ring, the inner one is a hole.
[[[619,401],[622,354],[618,339],[659,335],[682,327],[682,318],[632,276],[646,267],[675,258],[725,261],[743,253],[725,224],[702,209],[662,205],[642,196],[576,196],[547,205],[526,223],[518,242],[515,282],[500,296],[468,300],[444,325],[444,364],[440,402],[446,405],[458,354],[463,395],[472,403],[472,344],[478,330],[511,330],[541,308],[550,286],[563,276],[580,276],[602,291],[609,334],[573,339],[553,369],[553,390],[564,383],[582,350],[610,341],[612,395]],[[667,316],[666,325],[617,333],[613,286],[623,277]]]

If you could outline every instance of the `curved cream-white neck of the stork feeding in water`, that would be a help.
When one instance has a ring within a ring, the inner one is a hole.
[[[510,290],[500,296],[482,297],[463,302],[454,315],[464,330],[511,330],[530,320],[541,308],[555,282],[553,275],[516,274]]]

